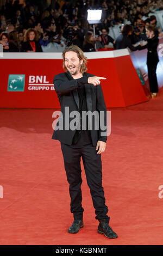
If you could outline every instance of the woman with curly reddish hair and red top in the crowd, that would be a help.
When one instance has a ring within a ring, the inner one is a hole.
[[[39,35],[34,28],[28,28],[24,34],[24,42],[22,44],[21,52],[42,52],[39,43]]]

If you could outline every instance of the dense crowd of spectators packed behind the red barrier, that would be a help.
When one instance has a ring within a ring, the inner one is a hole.
[[[12,2],[6,0],[0,10],[0,42],[4,52],[42,52],[49,44],[62,50],[78,45],[85,52],[116,48],[116,40],[108,35],[109,29],[126,21],[131,23],[129,38],[134,45],[147,40],[146,28],[150,24],[157,27],[155,11],[163,10],[162,0]],[[103,10],[102,23],[95,25],[96,36],[87,22],[87,9]],[[153,15],[148,17],[149,13]]]

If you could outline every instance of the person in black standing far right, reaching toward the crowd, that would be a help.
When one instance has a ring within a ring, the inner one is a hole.
[[[159,32],[154,26],[149,25],[146,28],[146,35],[147,35],[147,44],[142,45],[140,44],[140,49],[143,50],[148,48],[147,53],[147,67],[148,67],[148,80],[149,80],[149,88],[151,92],[152,99],[157,96],[158,94],[158,81],[156,77],[156,67],[159,62],[157,47],[159,44]]]

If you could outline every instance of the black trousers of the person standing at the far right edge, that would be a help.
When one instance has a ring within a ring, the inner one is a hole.
[[[147,64],[149,88],[151,93],[158,93],[158,80],[156,77],[156,67],[158,63]]]

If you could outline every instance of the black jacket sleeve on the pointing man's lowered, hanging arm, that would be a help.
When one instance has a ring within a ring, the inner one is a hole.
[[[107,112],[106,112],[106,105],[105,105],[105,100],[104,100],[104,95],[103,95],[103,90],[101,87],[101,84],[98,84],[96,86],[96,109],[99,113],[99,141],[106,142],[107,141],[107,136],[102,135],[103,132],[107,132]],[[100,124],[100,120],[102,119],[102,122],[104,121],[104,124]],[[103,130],[103,126],[106,126],[106,129]]]

